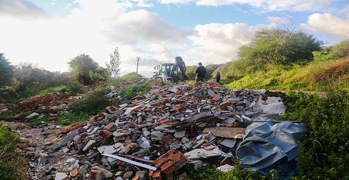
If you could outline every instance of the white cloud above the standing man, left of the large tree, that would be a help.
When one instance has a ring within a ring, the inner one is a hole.
[[[270,28],[271,25],[250,27],[244,23],[197,25],[198,34],[191,36],[194,47],[191,50],[193,61],[205,64],[226,63],[236,56],[236,49],[247,44],[253,33],[260,28]],[[247,37],[246,37],[247,36]]]

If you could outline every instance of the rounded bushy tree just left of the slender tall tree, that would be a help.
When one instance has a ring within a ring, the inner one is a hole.
[[[88,55],[78,55],[67,62],[67,64],[70,67],[73,81],[78,81],[84,86],[106,80],[107,74],[105,69],[101,68]]]

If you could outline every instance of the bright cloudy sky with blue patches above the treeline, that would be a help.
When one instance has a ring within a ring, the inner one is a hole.
[[[349,0],[0,0],[0,53],[67,72],[89,55],[106,67],[118,48],[120,75],[153,75],[159,63],[226,63],[254,32],[290,22],[326,46],[349,39]],[[281,24],[282,23],[282,24]]]

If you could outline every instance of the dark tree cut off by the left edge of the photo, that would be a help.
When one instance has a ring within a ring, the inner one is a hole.
[[[0,88],[11,85],[14,66],[0,53]]]

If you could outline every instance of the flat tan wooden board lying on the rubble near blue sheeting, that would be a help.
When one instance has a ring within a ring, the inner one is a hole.
[[[214,136],[224,138],[234,138],[238,134],[245,134],[245,128],[241,127],[208,127],[202,132],[211,132]],[[242,139],[242,136],[237,136],[237,139]]]

